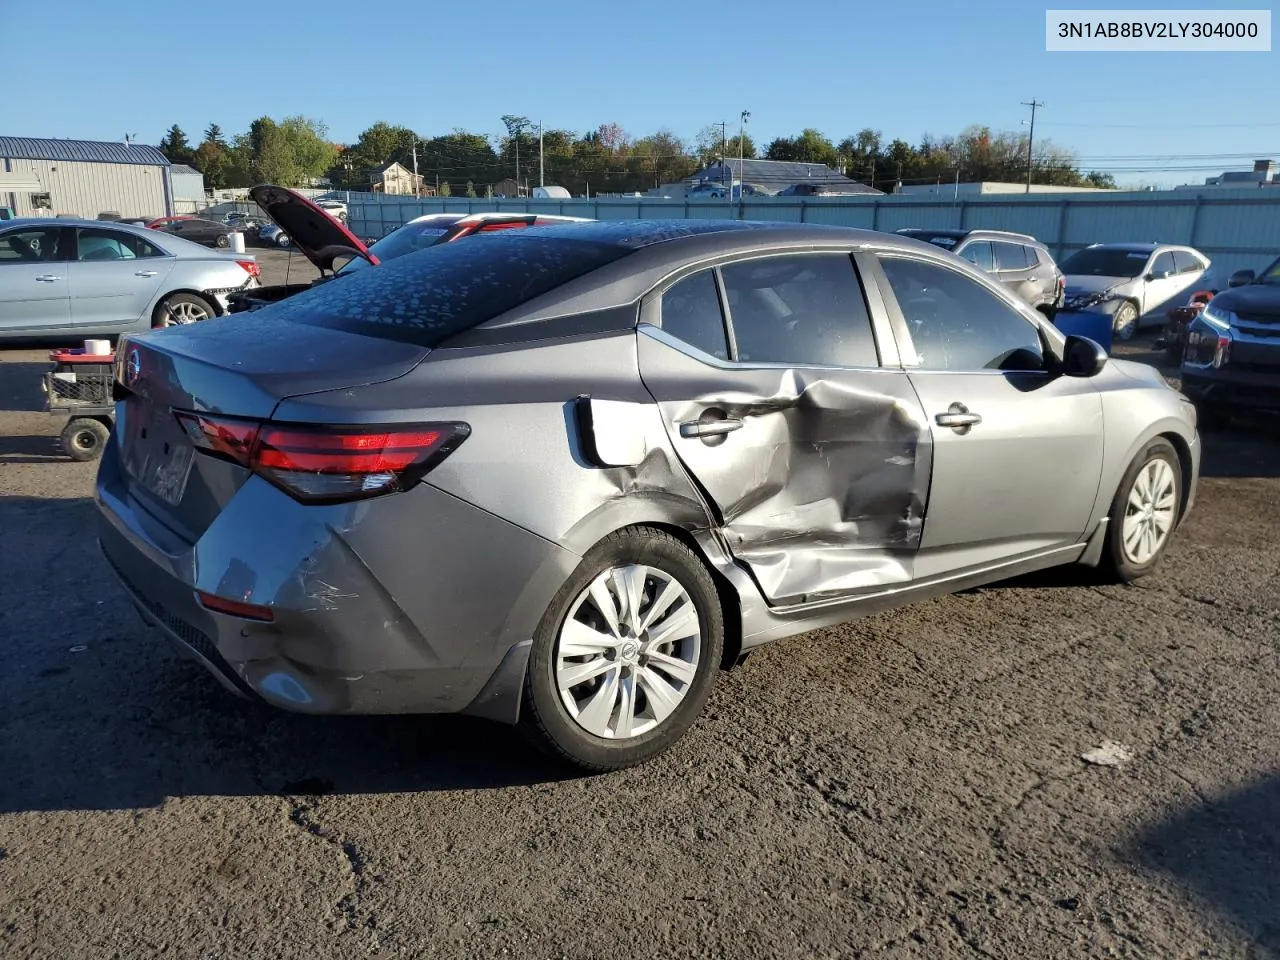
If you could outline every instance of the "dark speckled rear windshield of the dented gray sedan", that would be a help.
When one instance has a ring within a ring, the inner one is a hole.
[[[628,252],[504,230],[396,257],[264,310],[279,320],[434,347]]]

